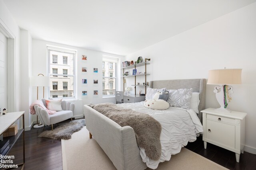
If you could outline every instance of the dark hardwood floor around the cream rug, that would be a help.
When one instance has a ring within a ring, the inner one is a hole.
[[[59,123],[59,125],[69,121],[70,120],[64,121]],[[45,130],[50,129],[51,127],[49,126]],[[42,128],[32,128],[30,131],[25,132],[25,170],[61,170],[61,141],[39,138],[38,135],[41,132]],[[188,143],[186,148],[230,170],[256,170],[256,155],[244,152],[244,154],[240,155],[240,163],[237,163],[234,152],[222,149],[210,143],[207,144],[207,149],[204,149],[204,143],[201,136],[198,137],[195,142]],[[22,140],[20,139],[15,144],[15,147],[9,152],[9,155],[15,156],[15,161],[17,163],[22,160],[21,150]]]

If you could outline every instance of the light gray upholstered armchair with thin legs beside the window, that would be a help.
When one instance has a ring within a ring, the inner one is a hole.
[[[45,99],[42,99],[42,102],[43,102],[44,106],[46,107]],[[57,113],[55,113],[53,115],[48,115],[47,111],[45,109],[43,109],[42,107],[39,107],[38,105],[35,105],[34,109],[36,110],[36,114],[38,115],[42,124],[43,125],[52,125],[52,129],[53,129],[53,124],[55,124],[55,123],[59,123],[61,121],[64,121],[64,120],[70,119],[70,118],[72,121],[75,105],[73,103],[62,100],[61,107],[62,107],[62,111],[57,111]]]

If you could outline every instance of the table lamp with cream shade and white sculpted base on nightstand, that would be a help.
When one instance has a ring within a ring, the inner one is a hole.
[[[209,70],[209,77],[207,84],[219,84],[221,86],[214,87],[214,93],[216,94],[216,99],[220,104],[220,108],[216,109],[218,111],[231,112],[226,107],[228,102],[232,100],[230,94],[233,93],[233,87],[228,84],[242,84],[241,79],[242,69],[219,69],[219,70]]]

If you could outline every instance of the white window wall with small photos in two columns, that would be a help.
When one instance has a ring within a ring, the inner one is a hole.
[[[93,51],[84,48],[72,47],[48,41],[32,39],[32,74],[36,76],[39,73],[46,75],[46,45],[64,47],[77,50],[77,99],[83,101],[84,104],[98,104],[104,102],[116,102],[115,98],[102,98],[102,55],[118,57],[119,61],[123,61],[123,56]],[[87,56],[86,61],[82,61],[82,55]],[[82,72],[82,67],[87,67],[87,72]],[[93,72],[93,68],[98,68],[98,73]],[[120,68],[120,66],[119,66]],[[120,77],[120,75],[118,75]],[[87,84],[82,84],[82,78],[87,78]],[[98,79],[98,85],[93,84],[93,80]],[[120,81],[118,88],[120,88]],[[82,90],[87,90],[87,96],[82,96]],[[98,95],[93,95],[93,90],[98,90]],[[39,92],[42,94],[42,92]],[[48,94],[45,95],[45,98]],[[40,96],[39,96],[40,98]],[[42,96],[41,96],[42,98]],[[36,100],[36,88],[33,88],[33,101]],[[80,110],[80,109],[79,109]],[[82,113],[81,113],[82,114]],[[76,113],[79,115],[79,113]]]

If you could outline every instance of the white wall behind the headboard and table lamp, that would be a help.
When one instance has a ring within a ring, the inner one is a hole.
[[[245,150],[256,154],[255,54],[256,3],[130,54],[126,60],[151,58],[148,80],[208,78],[211,69],[243,68],[242,85],[233,86],[228,108],[248,113]],[[206,108],[217,108],[214,85],[206,88]]]

